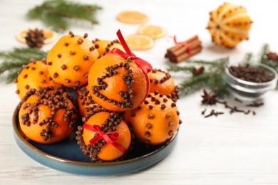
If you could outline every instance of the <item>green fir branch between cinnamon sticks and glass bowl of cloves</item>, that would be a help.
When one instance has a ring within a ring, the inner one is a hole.
[[[229,58],[220,58],[214,61],[206,60],[185,60],[185,66],[170,65],[168,71],[192,74],[192,68],[196,65],[205,67],[204,73],[200,75],[190,75],[189,78],[182,80],[179,84],[180,94],[188,95],[203,88],[210,88],[212,92],[217,93],[218,97],[224,97],[228,94],[225,83],[225,68],[229,63]]]

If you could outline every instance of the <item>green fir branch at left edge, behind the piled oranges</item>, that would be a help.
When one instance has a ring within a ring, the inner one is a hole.
[[[47,53],[39,51],[35,48],[14,48],[13,51],[0,51],[0,75],[8,71],[6,78],[7,83],[11,83],[19,71],[22,70],[22,65],[29,63],[31,58],[34,60],[41,60],[46,58]]]

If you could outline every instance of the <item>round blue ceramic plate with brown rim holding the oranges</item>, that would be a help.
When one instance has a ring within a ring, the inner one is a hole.
[[[28,139],[19,127],[18,113],[16,109],[13,127],[14,138],[19,147],[36,162],[71,174],[111,176],[145,169],[168,156],[177,141],[175,134],[167,143],[149,149],[135,144],[133,154],[124,161],[93,163],[81,152],[74,133],[55,144],[39,144]]]

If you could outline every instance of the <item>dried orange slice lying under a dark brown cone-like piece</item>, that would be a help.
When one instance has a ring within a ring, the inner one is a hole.
[[[19,33],[16,34],[16,40],[21,42],[21,43],[26,43],[26,35],[28,33],[29,29],[25,29],[22,31],[19,31]],[[43,36],[46,38],[43,43],[51,43],[55,41],[57,38],[57,33],[55,31],[51,30],[43,30]]]

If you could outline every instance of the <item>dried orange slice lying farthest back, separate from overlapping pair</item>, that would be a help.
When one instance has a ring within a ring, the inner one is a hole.
[[[123,23],[144,23],[148,21],[148,16],[138,11],[122,11],[117,16]]]

